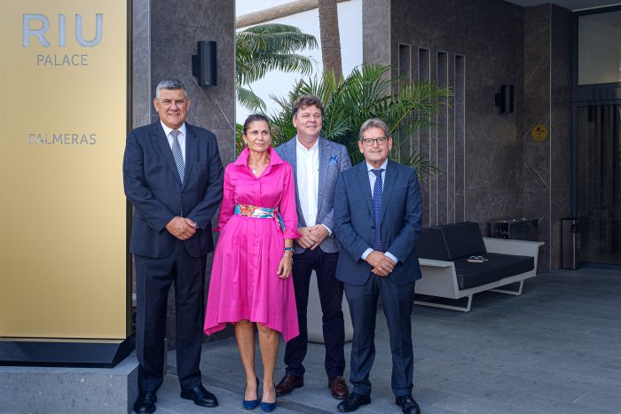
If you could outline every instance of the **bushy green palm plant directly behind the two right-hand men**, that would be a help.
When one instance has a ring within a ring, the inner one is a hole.
[[[390,79],[389,66],[362,65],[351,74],[337,82],[334,73],[300,81],[288,93],[287,98],[271,96],[279,111],[272,113],[271,130],[273,145],[287,141],[295,136],[291,120],[291,108],[296,98],[302,95],[315,95],[324,103],[322,137],[345,145],[351,160],[362,160],[358,151],[358,130],[370,118],[385,121],[393,137],[391,158],[415,167],[423,175],[439,173],[437,166],[413,151],[414,132],[432,125],[431,115],[452,94],[447,88],[439,88],[434,83],[416,80],[402,84],[395,95],[389,94],[392,86],[398,85],[398,78]]]

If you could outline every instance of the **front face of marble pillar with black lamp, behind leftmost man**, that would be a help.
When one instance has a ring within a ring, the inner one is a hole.
[[[197,42],[217,43],[217,86],[200,87],[192,74]],[[230,0],[151,0],[151,83],[176,77],[192,107],[188,122],[211,130],[224,164],[233,160],[235,133],[235,9]],[[152,119],[157,114],[152,109]]]

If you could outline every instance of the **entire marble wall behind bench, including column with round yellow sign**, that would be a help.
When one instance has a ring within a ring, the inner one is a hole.
[[[399,53],[410,51],[414,78],[454,91],[438,126],[414,137],[442,169],[422,186],[425,225],[469,220],[485,234],[494,220],[538,218],[540,269],[558,268],[558,226],[570,209],[570,13],[501,0],[363,7],[366,62],[391,65],[396,75],[408,61]],[[495,106],[503,84],[515,86],[514,113]],[[537,122],[550,131],[541,145],[530,138]]]

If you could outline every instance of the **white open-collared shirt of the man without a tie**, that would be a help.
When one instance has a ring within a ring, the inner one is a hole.
[[[311,148],[306,148],[295,139],[295,156],[297,164],[297,191],[300,209],[307,227],[317,221],[317,204],[319,190],[319,141]]]

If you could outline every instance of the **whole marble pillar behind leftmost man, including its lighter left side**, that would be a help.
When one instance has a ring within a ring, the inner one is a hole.
[[[132,125],[158,119],[152,105],[155,86],[177,78],[191,98],[187,121],[216,134],[224,165],[230,163],[235,151],[234,2],[134,0],[132,34]],[[217,43],[217,86],[200,87],[192,74],[192,55],[197,42],[207,40]],[[173,305],[171,291],[169,348],[175,346]]]

